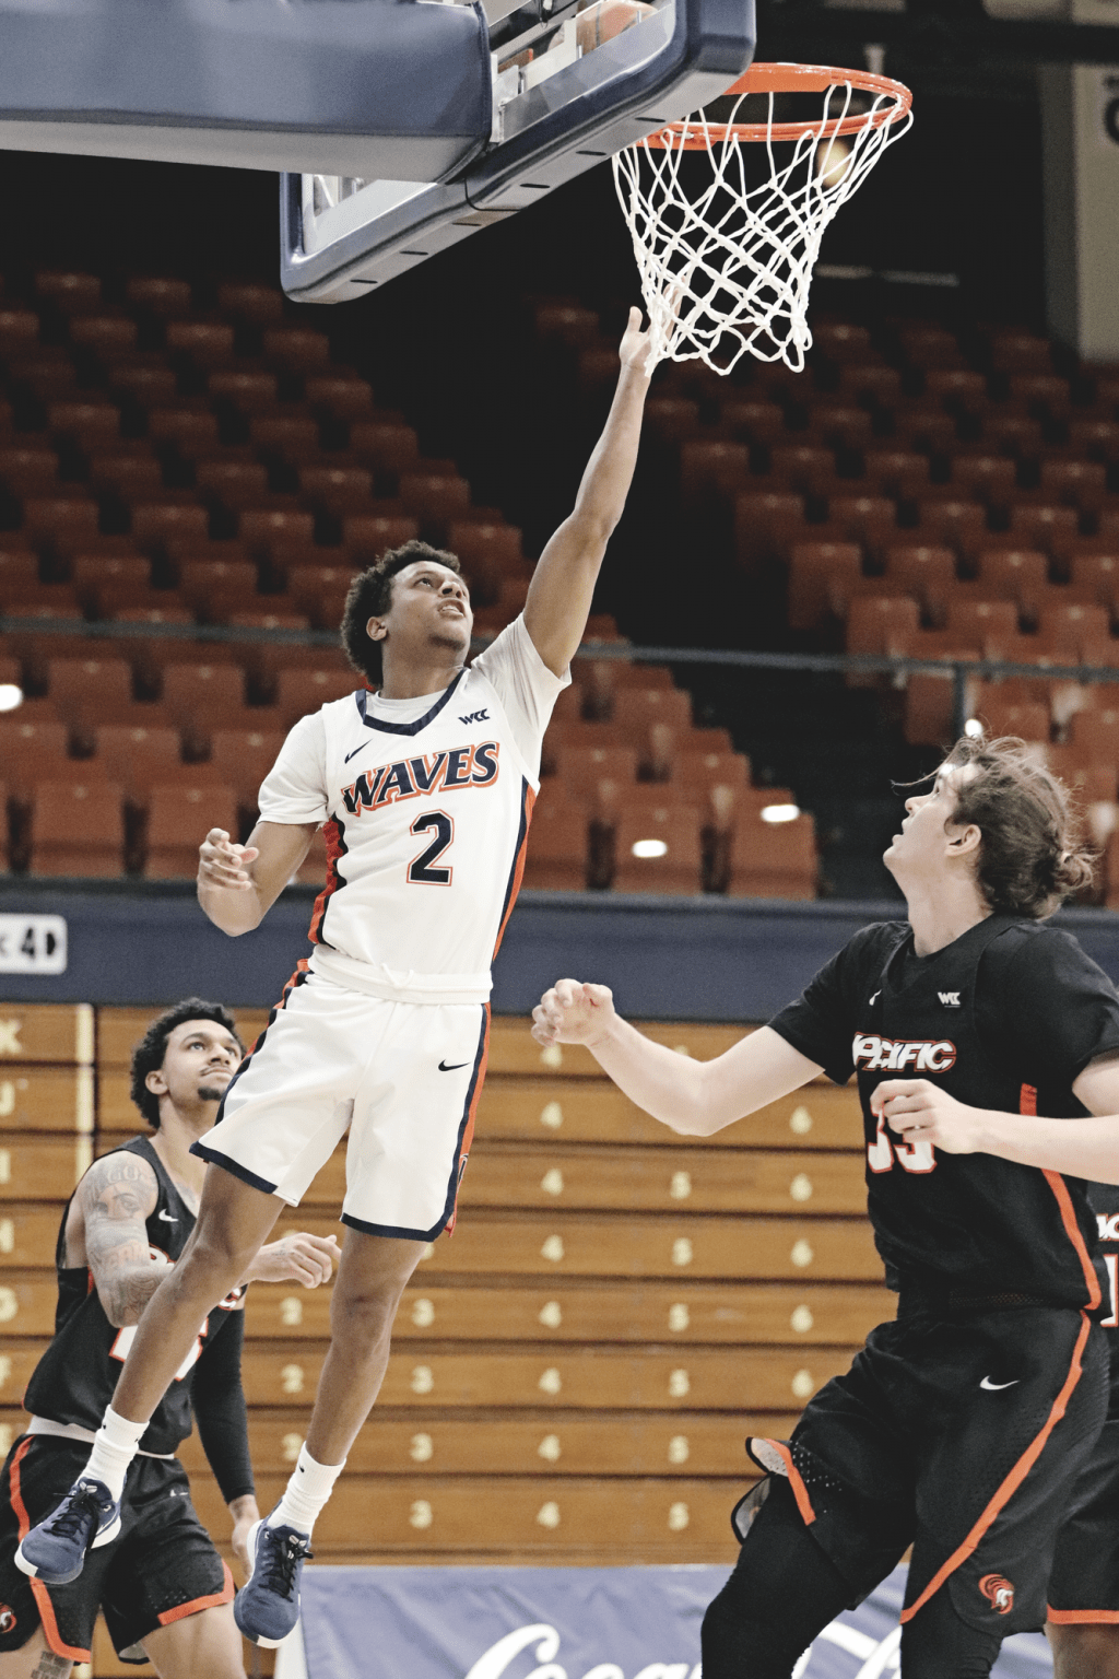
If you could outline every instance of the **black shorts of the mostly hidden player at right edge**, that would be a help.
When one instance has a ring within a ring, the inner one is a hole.
[[[1112,1405],[1114,1412],[1114,1405]],[[1119,1624],[1119,1417],[1096,1441],[1070,1496],[1049,1577],[1057,1625]]]

